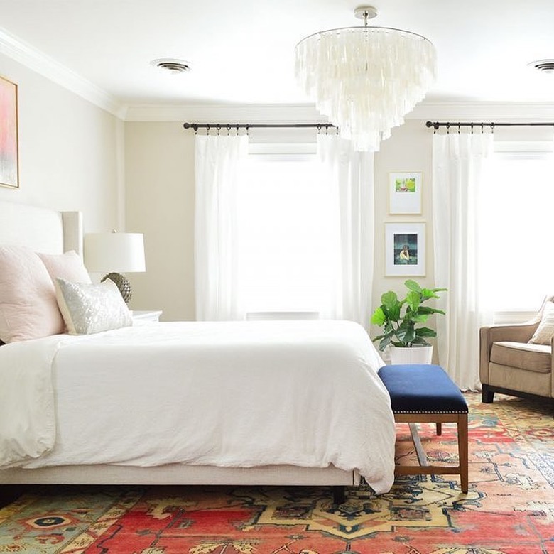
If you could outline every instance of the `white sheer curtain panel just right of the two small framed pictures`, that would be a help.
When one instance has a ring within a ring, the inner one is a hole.
[[[440,364],[463,390],[479,388],[479,187],[492,134],[433,135],[433,241]]]

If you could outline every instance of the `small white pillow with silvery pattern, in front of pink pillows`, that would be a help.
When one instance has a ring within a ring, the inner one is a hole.
[[[72,283],[58,277],[56,298],[70,335],[90,335],[129,327],[133,319],[119,288],[107,279],[104,283]]]

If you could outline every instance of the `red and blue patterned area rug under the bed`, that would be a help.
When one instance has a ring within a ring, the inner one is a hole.
[[[0,510],[0,553],[554,554],[553,405],[479,398],[469,494],[449,475],[352,487],[340,506],[325,487],[34,487]],[[420,430],[433,463],[455,461],[453,426]]]

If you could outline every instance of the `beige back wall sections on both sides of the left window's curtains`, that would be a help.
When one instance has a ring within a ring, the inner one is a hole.
[[[401,290],[405,278],[384,276],[384,222],[425,222],[427,273],[434,286],[430,203],[432,131],[408,121],[393,131],[376,154],[376,248],[374,306],[385,290]],[[127,230],[143,232],[147,271],[131,276],[131,306],[161,309],[163,320],[193,320],[194,308],[194,133],[180,122],[128,122],[125,126]],[[390,172],[423,172],[421,215],[389,215]],[[372,255],[368,253],[368,255]],[[369,326],[369,322],[368,322]],[[376,331],[374,329],[373,331]]]

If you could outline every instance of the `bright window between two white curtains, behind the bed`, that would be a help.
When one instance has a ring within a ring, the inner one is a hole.
[[[250,154],[238,218],[246,313],[320,312],[332,286],[336,227],[315,153]]]

